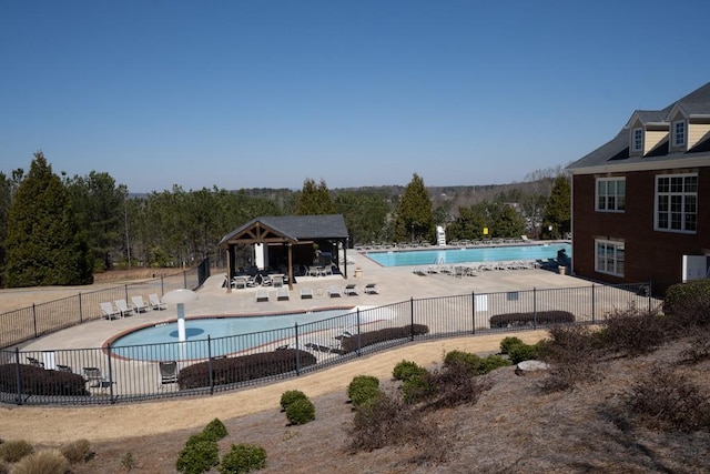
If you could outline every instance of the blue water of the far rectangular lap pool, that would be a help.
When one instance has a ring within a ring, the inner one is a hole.
[[[565,249],[568,256],[571,256],[571,245],[564,242],[539,245],[503,245],[464,249],[368,252],[367,256],[383,266],[406,266],[476,262],[510,262],[515,260],[547,260],[556,259],[557,252],[561,249]]]

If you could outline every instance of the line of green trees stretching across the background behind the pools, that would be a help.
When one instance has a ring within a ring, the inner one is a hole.
[[[329,190],[306,178],[288,189],[203,188],[132,195],[105,172],[58,175],[39,151],[29,171],[0,172],[0,285],[88,284],[116,268],[193,266],[220,261],[220,240],[261,215],[343,214],[351,244],[510,238],[569,232],[569,178],[536,172],[523,183]],[[485,233],[484,229],[487,230]]]

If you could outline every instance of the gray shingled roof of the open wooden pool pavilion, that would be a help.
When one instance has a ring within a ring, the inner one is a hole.
[[[220,241],[220,245],[223,245],[256,223],[261,223],[293,241],[348,238],[347,226],[345,225],[345,219],[342,214],[276,215],[252,219],[224,235]]]

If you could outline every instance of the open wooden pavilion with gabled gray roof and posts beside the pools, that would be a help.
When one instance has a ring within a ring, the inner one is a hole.
[[[233,230],[220,241],[220,248],[226,251],[227,281],[231,281],[234,269],[234,250],[237,245],[264,244],[283,245],[287,254],[288,289],[293,290],[293,249],[317,242],[337,242],[347,252],[348,233],[342,214],[325,215],[283,215],[261,216],[252,219]],[[347,254],[344,253],[342,273],[347,279]],[[339,268],[339,265],[338,265]],[[229,282],[227,282],[229,283]],[[227,284],[227,292],[232,291]]]

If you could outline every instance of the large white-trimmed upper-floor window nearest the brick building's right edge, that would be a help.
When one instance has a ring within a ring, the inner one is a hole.
[[[698,174],[656,177],[655,229],[696,233],[698,230]]]

